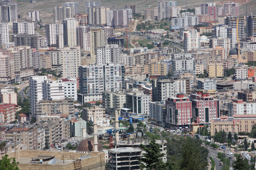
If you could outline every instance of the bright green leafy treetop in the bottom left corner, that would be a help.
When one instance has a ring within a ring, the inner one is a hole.
[[[2,160],[0,160],[0,170],[19,170],[18,164],[19,162],[16,162],[15,158],[8,158],[6,154],[2,157]]]

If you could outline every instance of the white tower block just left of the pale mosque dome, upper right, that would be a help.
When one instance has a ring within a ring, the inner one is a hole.
[[[200,33],[197,30],[184,31],[183,48],[184,51],[194,50],[200,47]]]

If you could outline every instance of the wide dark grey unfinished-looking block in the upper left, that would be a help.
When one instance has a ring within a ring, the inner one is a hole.
[[[38,49],[38,36],[34,34],[21,33],[14,37],[15,47],[29,46],[31,48]]]

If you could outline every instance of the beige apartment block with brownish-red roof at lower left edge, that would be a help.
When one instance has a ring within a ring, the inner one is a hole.
[[[25,144],[27,150],[37,150],[37,127],[15,127],[11,129],[0,129],[4,140],[20,141]]]

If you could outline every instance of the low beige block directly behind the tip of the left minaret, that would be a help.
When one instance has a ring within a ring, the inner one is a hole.
[[[86,122],[93,120],[93,115],[97,115],[97,119],[105,119],[106,112],[105,108],[94,106],[94,107],[83,107],[83,120]]]

